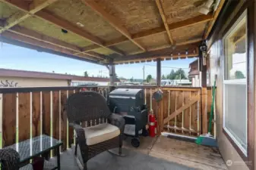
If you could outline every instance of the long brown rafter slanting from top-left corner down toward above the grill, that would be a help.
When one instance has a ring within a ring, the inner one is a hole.
[[[20,0],[14,0],[14,1],[0,0],[0,1],[5,2],[8,5],[11,5],[15,8],[18,8],[21,11],[24,11],[26,14],[29,14],[29,9],[31,8],[31,5],[29,7],[27,7],[26,5],[24,5],[24,3],[21,3]],[[104,43],[101,39],[97,38],[96,36],[91,35],[89,32],[86,32],[83,29],[78,28],[77,26],[74,26],[74,24],[68,22],[67,20],[64,20],[60,17],[57,17],[57,16],[51,14],[49,11],[46,11],[43,9],[41,11],[36,12],[33,15],[36,17],[39,17],[43,20],[46,20],[47,22],[52,23],[55,26],[58,26],[62,29],[66,29],[70,32],[73,32],[73,33],[77,34],[78,36],[81,36],[82,38],[87,39],[87,41],[90,41],[93,44],[99,45],[100,47],[103,47],[103,48],[108,48],[108,47],[104,46]],[[108,49],[114,51],[117,54],[121,54],[121,55],[124,54],[122,51],[119,51],[118,49],[115,49],[112,47],[109,47]]]

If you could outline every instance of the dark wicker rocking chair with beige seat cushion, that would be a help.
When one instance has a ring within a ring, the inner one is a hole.
[[[72,94],[66,108],[69,125],[77,135],[74,154],[77,157],[78,144],[84,170],[87,170],[87,161],[103,151],[119,147],[119,154],[122,154],[125,119],[110,113],[101,94],[94,91]]]

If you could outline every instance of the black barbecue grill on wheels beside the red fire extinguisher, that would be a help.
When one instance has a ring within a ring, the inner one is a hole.
[[[125,118],[124,134],[132,136],[131,144],[139,147],[139,134],[145,134],[147,107],[144,105],[144,90],[117,88],[109,93],[109,108]]]

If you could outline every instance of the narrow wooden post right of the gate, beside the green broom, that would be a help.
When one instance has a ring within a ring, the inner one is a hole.
[[[207,118],[207,65],[204,65],[204,57],[199,50],[200,70],[201,70],[201,131],[206,134],[208,131]]]

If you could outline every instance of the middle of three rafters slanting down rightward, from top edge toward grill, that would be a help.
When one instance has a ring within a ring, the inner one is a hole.
[[[132,39],[131,34],[128,32],[128,30],[125,28],[125,26],[122,26],[121,23],[119,23],[119,20],[115,17],[113,17],[111,14],[107,13],[102,7],[100,7],[99,4],[96,2],[93,2],[91,0],[82,0],[85,5],[89,6],[93,9],[93,11],[96,12],[96,14],[99,14],[101,17],[103,17],[110,25],[112,25],[116,30],[118,30],[122,35],[124,35],[127,39],[129,39],[131,42],[133,42],[137,47],[141,48],[141,50],[146,51],[140,43],[138,43],[136,40]]]

